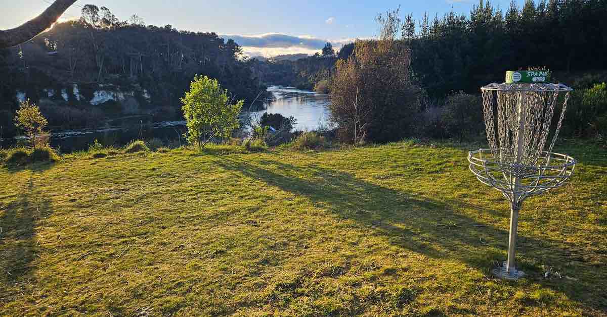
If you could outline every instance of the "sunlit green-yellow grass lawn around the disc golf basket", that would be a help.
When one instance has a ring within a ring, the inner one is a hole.
[[[558,146],[577,173],[526,201],[504,281],[509,206],[473,146],[2,168],[0,315],[607,315],[607,151]]]

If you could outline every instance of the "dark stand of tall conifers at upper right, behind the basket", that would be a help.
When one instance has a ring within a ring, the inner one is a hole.
[[[449,15],[402,25],[413,70],[430,96],[476,93],[501,82],[508,69],[544,66],[583,72],[607,68],[606,0],[527,0],[503,12],[482,0],[469,16]]]

